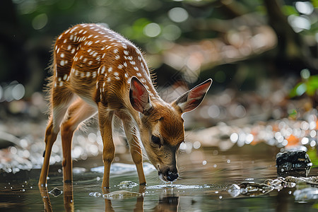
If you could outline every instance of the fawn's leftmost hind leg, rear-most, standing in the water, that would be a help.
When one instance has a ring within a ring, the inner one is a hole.
[[[61,92],[61,90],[59,90],[59,92]],[[47,186],[47,175],[49,174],[49,157],[51,156],[52,146],[57,140],[59,126],[64,119],[67,107],[69,107],[69,104],[73,98],[73,94],[68,90],[64,89],[62,92],[64,94],[63,99],[57,96],[57,90],[53,90],[52,92],[52,114],[49,117],[49,122],[45,131],[45,153],[43,154],[44,161],[38,183],[40,187]]]

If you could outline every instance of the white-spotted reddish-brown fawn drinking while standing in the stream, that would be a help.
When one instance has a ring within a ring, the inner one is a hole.
[[[96,113],[103,142],[103,189],[110,187],[114,115],[122,119],[139,184],[146,184],[140,140],[160,179],[177,179],[176,152],[184,141],[182,114],[200,105],[211,79],[174,102],[163,101],[140,50],[102,24],[79,24],[62,33],[54,45],[52,70],[48,86],[51,114],[45,132],[40,187],[47,186],[49,157],[60,129],[63,179],[71,182],[73,133]]]

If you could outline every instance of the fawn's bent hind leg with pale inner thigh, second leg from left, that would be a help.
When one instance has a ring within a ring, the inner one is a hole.
[[[75,102],[69,106],[66,119],[61,124],[61,140],[63,148],[63,179],[68,183],[72,181],[72,158],[71,158],[71,146],[73,133],[78,128],[81,122],[89,119],[96,114],[97,109],[88,105],[81,98],[78,98]]]

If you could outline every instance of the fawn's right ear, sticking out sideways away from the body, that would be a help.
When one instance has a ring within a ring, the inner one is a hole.
[[[202,100],[204,100],[204,97],[206,96],[211,83],[212,79],[209,78],[204,83],[201,83],[198,86],[187,91],[186,93],[182,94],[177,100],[175,100],[174,104],[179,106],[182,113],[190,112],[196,109],[196,107],[201,104]]]

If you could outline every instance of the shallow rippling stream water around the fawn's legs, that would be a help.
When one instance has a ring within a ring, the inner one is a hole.
[[[0,211],[316,211],[316,187],[281,187],[243,194],[232,184],[263,183],[276,179],[279,149],[259,143],[234,146],[228,151],[199,148],[178,157],[179,179],[163,184],[151,165],[145,164],[147,187],[141,192],[130,155],[117,155],[109,196],[102,196],[100,156],[74,161],[73,187],[64,187],[61,166],[49,170],[47,192],[40,192],[39,169],[0,175]],[[310,175],[317,176],[317,167]],[[304,189],[310,189],[309,193]],[[231,191],[232,189],[232,191]],[[73,192],[71,192],[73,190]],[[126,192],[123,192],[126,191]],[[237,193],[238,192],[238,193]],[[41,196],[42,194],[42,196]],[[311,195],[311,197],[310,197]]]

